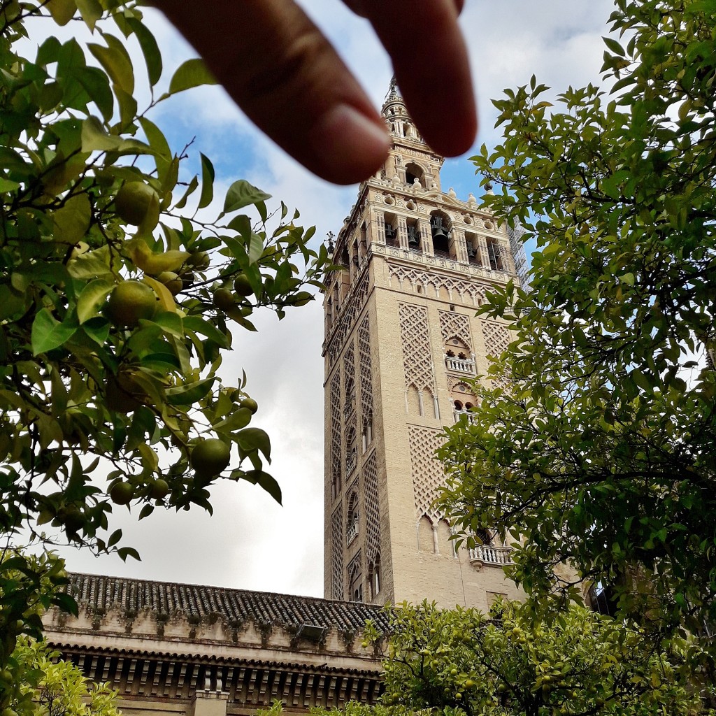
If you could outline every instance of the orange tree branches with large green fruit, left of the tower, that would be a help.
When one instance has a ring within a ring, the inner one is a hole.
[[[113,504],[210,510],[222,477],[281,500],[246,376],[224,385],[218,369],[232,321],[255,330],[260,306],[283,318],[330,268],[283,203],[269,215],[238,180],[217,214],[203,155],[201,178],[183,178],[188,147],[170,149],[150,110],[213,79],[190,59],[160,92],[139,5],[0,3],[0,534],[122,558],[137,554],[110,530]],[[3,634],[25,619],[17,574],[27,606],[47,596],[32,596],[36,571],[19,553],[0,566]]]

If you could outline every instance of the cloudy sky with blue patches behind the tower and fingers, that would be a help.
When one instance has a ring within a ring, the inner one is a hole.
[[[301,0],[301,5],[332,40],[345,61],[380,105],[392,70],[367,21],[353,16],[339,0]],[[561,90],[599,82],[601,35],[612,4],[606,0],[467,0],[462,24],[470,47],[478,92],[480,135],[475,145],[492,146],[490,99],[505,87],[538,81]],[[158,15],[150,18],[163,48],[167,75],[192,50]],[[238,32],[238,31],[237,31]],[[425,47],[430,52],[430,47]],[[440,102],[440,87],[435,87]],[[334,187],[314,178],[253,129],[221,88],[202,88],[173,98],[151,115],[175,149],[196,137],[192,161],[208,155],[217,183],[246,178],[278,200],[296,207],[305,226],[316,225],[316,239],[337,233],[353,203],[356,187]],[[445,107],[450,121],[450,107]],[[479,195],[465,158],[448,160],[442,185],[460,198]],[[142,561],[122,563],[115,556],[95,558],[64,551],[69,569],[138,576],[289,594],[323,594],[323,360],[321,304],[290,311],[284,321],[273,314],[256,321],[258,334],[236,334],[223,364],[225,384],[246,370],[248,392],[260,406],[255,424],[271,435],[271,473],[281,483],[284,506],[248,483],[213,490],[213,516],[155,512],[137,523],[126,508],[115,508],[126,543]],[[254,423],[252,423],[254,424]]]

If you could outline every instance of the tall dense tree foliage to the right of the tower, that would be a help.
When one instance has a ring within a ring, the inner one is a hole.
[[[511,347],[448,429],[445,505],[468,541],[521,536],[514,576],[536,603],[579,598],[700,633],[716,619],[716,2],[617,0],[611,97],[533,77],[495,102],[504,141],[475,165],[486,204],[541,251],[526,293],[495,291]]]

